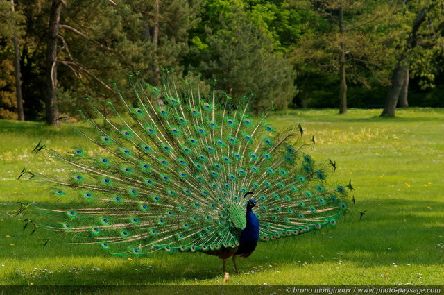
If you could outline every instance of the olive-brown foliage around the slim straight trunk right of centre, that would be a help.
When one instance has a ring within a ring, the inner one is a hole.
[[[289,54],[298,71],[301,92],[296,103],[299,106],[337,106],[337,102],[330,103],[332,97],[325,101],[316,92],[337,96],[341,44],[350,89],[359,87],[362,91],[374,90],[375,87],[384,87],[390,83],[389,69],[393,67],[394,61],[391,58],[391,47],[386,46],[386,25],[388,19],[391,19],[393,26],[399,23],[393,24],[391,18],[397,6],[389,7],[384,1],[366,0],[297,3],[316,16],[311,20],[310,29],[293,44]],[[341,7],[343,28],[340,25]]]

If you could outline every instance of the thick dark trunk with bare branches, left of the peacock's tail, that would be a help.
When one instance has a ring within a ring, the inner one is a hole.
[[[62,3],[62,0],[52,1],[51,12],[49,15],[49,32],[46,48],[46,121],[48,122],[48,124],[54,126],[58,126],[57,49]]]

